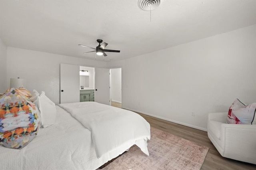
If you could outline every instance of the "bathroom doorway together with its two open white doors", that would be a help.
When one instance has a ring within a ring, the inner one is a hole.
[[[80,77],[80,72],[82,77]],[[61,63],[60,103],[83,101],[111,105],[110,69]]]

